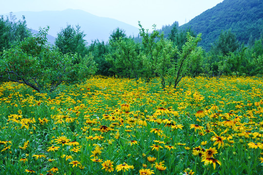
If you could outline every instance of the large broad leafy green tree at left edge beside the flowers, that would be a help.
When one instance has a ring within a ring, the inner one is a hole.
[[[50,48],[46,38],[48,29],[40,29],[37,35],[4,50],[0,60],[3,78],[42,93],[54,91],[62,82],[74,83],[94,74],[96,65],[92,55],[79,57]],[[76,59],[80,60],[79,64],[75,64]]]

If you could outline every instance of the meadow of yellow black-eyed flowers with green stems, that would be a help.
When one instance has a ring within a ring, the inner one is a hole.
[[[263,174],[263,78],[0,86],[1,175]]]

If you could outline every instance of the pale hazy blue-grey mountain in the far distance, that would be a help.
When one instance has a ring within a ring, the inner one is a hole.
[[[104,18],[92,15],[82,10],[67,9],[63,11],[42,11],[42,12],[15,12],[17,18],[25,16],[27,27],[38,30],[39,27],[50,26],[49,35],[56,37],[57,33],[67,24],[79,25],[81,31],[86,34],[85,39],[99,39],[107,41],[111,32],[117,27],[126,31],[126,35],[138,35],[139,29],[112,18]],[[4,14],[7,15],[7,14]]]

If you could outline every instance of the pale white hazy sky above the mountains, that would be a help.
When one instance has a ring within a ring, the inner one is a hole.
[[[114,18],[135,27],[179,25],[223,0],[0,0],[0,14],[19,11],[80,9],[99,17]]]

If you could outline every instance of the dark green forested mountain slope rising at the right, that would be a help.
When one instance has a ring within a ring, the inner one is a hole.
[[[246,44],[249,37],[256,39],[263,35],[263,0],[224,0],[179,27],[189,28],[196,34],[202,33],[200,45],[206,50],[222,31],[229,29]],[[161,32],[167,34],[171,29],[172,26],[165,26]]]

